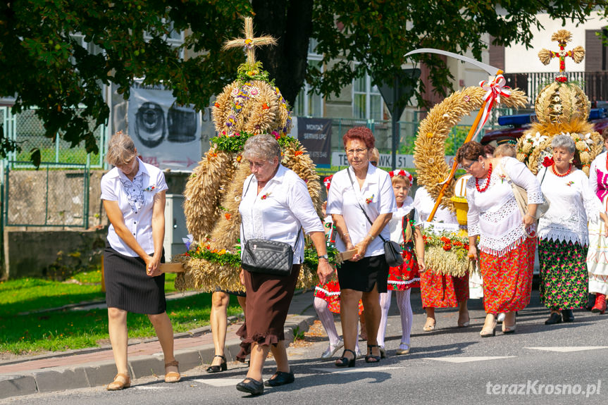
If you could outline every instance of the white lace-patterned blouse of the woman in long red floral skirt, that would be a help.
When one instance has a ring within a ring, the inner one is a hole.
[[[515,185],[526,189],[529,204],[542,204],[543,201],[536,177],[525,164],[509,156],[502,158],[498,167],[492,168],[490,186],[484,192],[477,191],[476,177],[466,182],[469,236],[480,235],[479,249],[494,256],[507,254],[526,238],[513,189],[505,180],[501,166]],[[486,182],[488,179],[478,180],[480,189]]]

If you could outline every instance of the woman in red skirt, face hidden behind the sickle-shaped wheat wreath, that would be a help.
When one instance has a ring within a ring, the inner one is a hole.
[[[428,191],[424,187],[418,187],[414,196],[414,208],[421,220],[426,220],[433,211],[435,200],[430,197]],[[458,224],[456,216],[447,208],[441,206],[437,209],[434,222],[446,224]],[[458,307],[459,328],[469,326],[469,309],[466,306],[466,301],[469,299],[469,275],[457,277],[448,274],[439,274],[433,272],[433,269],[427,268],[426,271],[420,273],[420,292],[422,298],[422,306],[426,311],[426,323],[423,326],[425,332],[435,330],[437,320],[435,320],[436,308],[456,308]]]

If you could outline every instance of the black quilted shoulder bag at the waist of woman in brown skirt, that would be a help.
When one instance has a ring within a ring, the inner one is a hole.
[[[252,180],[253,177],[249,180],[249,184],[243,195],[247,194]],[[243,223],[241,221],[242,226]],[[302,227],[298,230],[294,247],[297,246],[300,233],[302,233]],[[245,232],[243,230],[244,237]],[[268,239],[249,239],[244,243],[241,266],[250,273],[280,276],[290,275],[294,263],[294,247],[285,242],[275,242]]]

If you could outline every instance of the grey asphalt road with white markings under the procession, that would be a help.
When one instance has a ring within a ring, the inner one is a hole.
[[[379,366],[363,359],[355,368],[337,369],[321,361],[326,337],[290,347],[296,381],[267,388],[260,397],[235,390],[246,368],[230,363],[228,372],[209,375],[204,368],[187,371],[181,382],[139,379],[121,392],[103,387],[35,394],[0,401],[6,404],[605,404],[608,378],[608,315],[575,311],[574,323],[544,325],[547,311],[534,294],[520,311],[514,335],[482,339],[484,313],[471,300],[471,327],[455,328],[456,311],[437,313],[438,329],[423,332],[425,316],[419,295],[412,295],[412,352],[395,356],[400,321],[395,299],[387,328],[389,358]],[[336,318],[338,321],[338,318]],[[337,322],[339,325],[339,322]],[[361,342],[361,349],[365,343]],[[268,361],[264,377],[273,374]]]

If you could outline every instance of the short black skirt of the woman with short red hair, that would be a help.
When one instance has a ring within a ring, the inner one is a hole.
[[[337,266],[340,289],[371,292],[376,285],[378,292],[386,292],[388,264],[383,254],[361,258],[359,261],[343,261]]]

